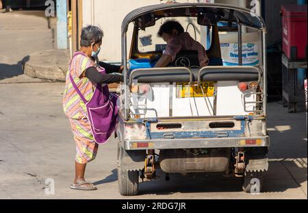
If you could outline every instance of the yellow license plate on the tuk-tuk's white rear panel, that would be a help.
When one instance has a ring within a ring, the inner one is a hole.
[[[177,83],[177,98],[214,97],[215,82]]]

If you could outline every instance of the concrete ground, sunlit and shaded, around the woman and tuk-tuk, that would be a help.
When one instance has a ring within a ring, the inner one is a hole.
[[[165,181],[160,174],[141,183],[137,197],[122,197],[112,140],[101,145],[86,169],[86,178],[99,190],[70,190],[75,143],[62,111],[64,83],[26,77],[20,64],[29,53],[53,48],[51,30],[40,16],[1,15],[0,199],[307,199],[306,114],[288,114],[276,102],[268,104],[270,167],[260,195],[242,192],[242,181],[235,177],[170,175]],[[54,180],[55,195],[45,193],[48,179]]]

